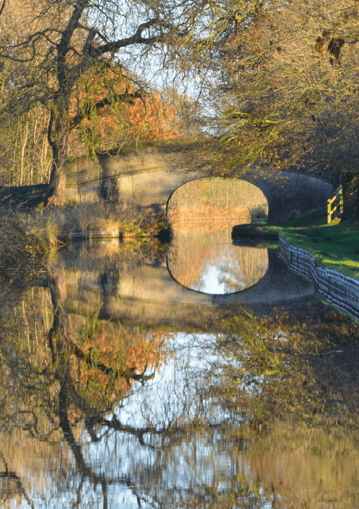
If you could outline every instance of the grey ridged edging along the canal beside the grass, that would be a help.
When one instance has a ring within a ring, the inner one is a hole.
[[[284,254],[289,267],[309,277],[316,292],[325,300],[359,320],[359,280],[317,265],[311,252],[288,244],[281,234],[278,238],[279,251]]]

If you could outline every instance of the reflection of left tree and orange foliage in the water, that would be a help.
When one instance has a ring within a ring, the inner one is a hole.
[[[122,405],[134,381],[144,384],[154,377],[172,334],[125,328],[100,321],[97,314],[69,316],[62,269],[49,275],[48,289],[32,288],[13,310],[4,312],[2,449],[21,475],[9,474],[4,459],[8,488],[2,484],[3,500],[20,502],[24,495],[37,506],[39,499],[34,502],[34,498],[47,498],[49,486],[44,479],[50,475],[51,486],[61,495],[54,506],[68,496],[74,501],[76,492],[80,503],[83,483],[89,482],[92,496],[100,496],[101,487],[101,503],[106,507],[108,480],[86,463],[80,437],[86,431],[92,442],[101,441],[97,424],[114,406]],[[59,449],[60,443],[65,447]],[[53,454],[55,468],[48,465]],[[27,491],[20,478],[32,485]],[[38,482],[33,482],[36,478]],[[69,483],[72,494],[67,493]]]

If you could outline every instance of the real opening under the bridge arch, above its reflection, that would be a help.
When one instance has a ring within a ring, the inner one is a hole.
[[[242,179],[221,177],[191,180],[175,189],[167,202],[167,220],[175,228],[182,221],[228,221],[233,224],[266,220],[263,192]]]

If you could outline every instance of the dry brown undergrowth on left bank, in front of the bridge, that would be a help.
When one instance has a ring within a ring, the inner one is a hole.
[[[164,214],[100,202],[46,210],[3,205],[0,213],[0,272],[9,274],[41,272],[57,250],[71,242],[71,233],[116,231],[126,242],[137,245],[167,232]]]

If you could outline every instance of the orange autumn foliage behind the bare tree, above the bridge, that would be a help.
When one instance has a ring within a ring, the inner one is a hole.
[[[111,70],[96,80],[93,75],[86,76],[82,85],[74,91],[70,115],[75,117],[78,111],[89,105],[91,112],[70,135],[71,157],[180,135],[175,127],[175,107],[162,101],[159,93],[144,94],[142,99],[131,102],[113,101],[96,108],[96,103],[109,97],[109,90],[113,95],[121,95],[134,92],[134,87],[122,71]]]

